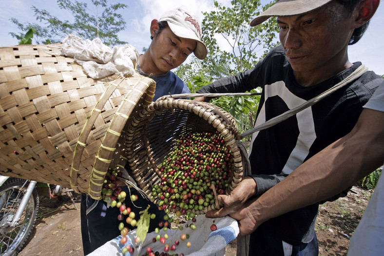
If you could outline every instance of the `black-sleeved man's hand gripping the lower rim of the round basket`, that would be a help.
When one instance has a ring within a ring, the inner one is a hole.
[[[229,196],[218,196],[218,200],[224,204],[224,207],[219,210],[207,212],[206,217],[217,218],[235,213],[241,209],[248,198],[255,195],[256,192],[256,181],[252,177],[245,177]]]

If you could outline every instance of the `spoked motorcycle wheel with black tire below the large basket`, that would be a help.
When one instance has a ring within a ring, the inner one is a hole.
[[[9,227],[19,208],[29,182],[10,177],[0,187],[0,256],[14,256],[31,234],[38,213],[38,192],[34,188],[19,220],[19,225]]]

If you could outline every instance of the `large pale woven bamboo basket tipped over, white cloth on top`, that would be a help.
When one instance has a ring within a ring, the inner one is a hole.
[[[99,199],[120,134],[152,102],[155,83],[138,74],[94,80],[59,53],[60,44],[0,47],[0,174]]]

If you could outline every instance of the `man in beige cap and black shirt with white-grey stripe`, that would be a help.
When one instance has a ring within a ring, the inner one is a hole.
[[[365,70],[361,62],[348,60],[347,49],[362,37],[378,5],[379,0],[279,0],[250,24],[256,26],[276,16],[281,45],[253,69],[217,80],[198,92],[237,93],[261,87],[255,126],[300,106],[354,71]],[[350,132],[381,82],[374,72],[363,71],[311,107],[253,134],[249,152],[252,175],[230,196],[220,196],[224,208],[207,213],[207,217],[230,215],[239,221],[241,235],[250,234],[246,250],[238,255],[246,255],[248,250],[249,255],[318,255],[314,225],[319,203],[260,224],[254,202],[307,159]]]

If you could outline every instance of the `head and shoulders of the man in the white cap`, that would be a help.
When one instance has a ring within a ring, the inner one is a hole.
[[[201,41],[201,27],[193,12],[183,6],[167,11],[159,20],[152,20],[150,32],[151,45],[140,56],[137,70],[156,81],[154,99],[170,93],[188,93],[188,87],[170,70],[183,63],[192,52],[198,59],[207,56],[207,47]]]

